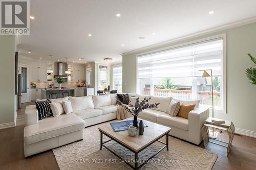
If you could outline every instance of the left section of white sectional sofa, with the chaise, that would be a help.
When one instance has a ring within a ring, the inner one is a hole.
[[[112,98],[110,96],[69,97],[52,102],[63,100],[71,102],[73,113],[38,120],[36,105],[26,107],[25,157],[81,140],[84,127],[116,119],[115,95],[112,95]]]

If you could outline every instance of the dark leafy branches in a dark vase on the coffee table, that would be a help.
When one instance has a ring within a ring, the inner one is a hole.
[[[129,105],[123,105],[124,109],[133,115],[133,126],[137,128],[138,130],[138,115],[142,110],[150,109],[150,108],[158,108],[159,103],[150,104],[148,101],[150,101],[151,98],[144,98],[143,100],[139,101],[139,98],[136,99],[135,106],[130,104],[130,99],[128,100]]]

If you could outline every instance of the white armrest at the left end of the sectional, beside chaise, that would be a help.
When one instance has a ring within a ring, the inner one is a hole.
[[[38,111],[36,105],[29,105],[25,109],[25,127],[38,124]]]

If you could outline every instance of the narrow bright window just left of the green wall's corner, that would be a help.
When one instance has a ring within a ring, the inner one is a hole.
[[[122,92],[122,66],[113,66],[113,89]]]

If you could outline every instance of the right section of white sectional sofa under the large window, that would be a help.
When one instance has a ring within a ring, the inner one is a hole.
[[[139,118],[150,120],[157,124],[172,128],[170,135],[184,139],[186,141],[200,144],[202,141],[201,129],[205,120],[209,117],[209,107],[199,105],[198,100],[182,100],[171,97],[159,97],[151,95],[137,95],[139,100],[151,98],[150,103],[160,103],[157,109],[146,109],[139,114]],[[183,117],[173,117],[168,114],[168,107],[171,100],[183,102],[185,104],[196,104],[195,109],[188,113],[188,119]],[[130,117],[126,114],[125,117]]]

